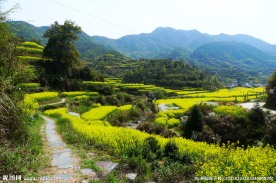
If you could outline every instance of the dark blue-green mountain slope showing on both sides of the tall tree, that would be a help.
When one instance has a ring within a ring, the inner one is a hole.
[[[24,21],[11,21],[9,23],[9,29],[18,37],[25,41],[38,41],[45,45],[47,39],[43,37],[45,31],[49,26],[35,27]],[[75,42],[77,49],[79,50],[81,57],[91,59],[103,54],[120,55],[115,50],[109,49],[101,43],[94,41],[88,34],[82,32],[79,34],[79,41]]]

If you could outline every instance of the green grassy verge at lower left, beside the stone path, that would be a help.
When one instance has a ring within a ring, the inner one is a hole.
[[[28,139],[0,146],[0,175],[39,176],[39,170],[50,161],[43,149],[43,125],[44,120],[36,116],[27,126]]]

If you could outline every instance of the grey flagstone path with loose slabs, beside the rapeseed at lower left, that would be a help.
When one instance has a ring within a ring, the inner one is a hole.
[[[73,116],[78,116],[77,113],[71,113]],[[78,158],[74,157],[72,150],[66,147],[60,135],[56,131],[55,121],[49,117],[41,115],[46,122],[45,131],[47,141],[47,151],[51,154],[51,167],[44,170],[45,180],[43,182],[58,182],[58,183],[86,183],[90,180],[100,180],[97,172],[92,169],[80,169]],[[95,153],[91,153],[93,157]],[[98,161],[96,166],[100,170],[101,176],[107,176],[111,171],[117,167],[118,163],[112,161]],[[136,173],[129,173],[125,175],[129,180],[134,180]]]

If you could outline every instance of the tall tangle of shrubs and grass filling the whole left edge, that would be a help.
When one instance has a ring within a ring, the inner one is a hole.
[[[9,31],[0,0],[0,174],[25,176],[46,164],[43,157],[40,127],[36,116],[38,104],[23,99],[22,82],[34,77],[34,69],[18,59],[24,49]],[[18,48],[19,47],[19,48]]]

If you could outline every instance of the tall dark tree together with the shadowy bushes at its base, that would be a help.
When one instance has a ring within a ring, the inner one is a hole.
[[[40,83],[60,90],[80,90],[82,80],[103,80],[102,76],[92,72],[79,59],[74,46],[81,28],[71,21],[63,25],[55,22],[44,34],[48,42],[43,50],[44,60],[37,63],[42,68]]]

